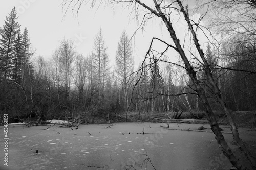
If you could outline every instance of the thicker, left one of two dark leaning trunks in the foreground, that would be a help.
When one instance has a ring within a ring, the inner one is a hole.
[[[146,9],[150,10],[154,15],[156,15],[157,17],[161,18],[162,21],[165,23],[165,26],[168,29],[168,32],[170,34],[170,37],[172,38],[173,42],[175,43],[175,46],[171,46],[172,48],[174,48],[181,56],[185,67],[186,67],[186,71],[188,72],[188,75],[191,79],[191,81],[194,83],[195,87],[196,87],[196,91],[198,93],[198,95],[200,96],[203,105],[205,107],[206,110],[206,114],[209,117],[209,123],[211,126],[211,130],[214,132],[215,134],[215,138],[218,142],[218,144],[221,145],[222,150],[223,150],[223,154],[229,159],[229,161],[231,162],[232,165],[234,165],[235,167],[239,168],[239,169],[247,169],[245,166],[243,166],[241,164],[241,162],[236,158],[236,156],[234,156],[234,153],[232,152],[232,150],[230,149],[230,147],[228,146],[226,140],[224,139],[224,136],[222,135],[220,129],[219,129],[219,125],[217,123],[216,117],[214,112],[212,111],[210,104],[208,102],[208,99],[206,98],[205,95],[205,89],[202,88],[202,86],[200,85],[199,80],[196,77],[196,72],[194,71],[193,67],[191,67],[185,52],[183,51],[182,46],[180,45],[180,40],[177,38],[176,33],[174,31],[174,28],[172,26],[172,23],[170,23],[170,21],[168,21],[168,19],[166,18],[166,16],[164,15],[164,13],[161,11],[159,4],[157,3],[156,0],[154,0],[155,3],[155,7],[156,10],[153,10],[152,8],[148,7],[147,5],[145,5],[144,3],[140,2],[139,0],[135,0],[137,3],[139,3],[140,5],[142,5],[143,7],[145,7]],[[178,4],[181,7],[181,11],[184,11],[184,8],[181,4],[180,1],[178,1]],[[185,15],[185,14],[184,14]]]

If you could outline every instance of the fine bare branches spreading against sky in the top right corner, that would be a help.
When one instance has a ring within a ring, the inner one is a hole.
[[[209,26],[222,37],[228,38],[238,34],[256,35],[255,1],[208,0],[199,2],[197,10],[200,11],[207,6],[211,13]]]

